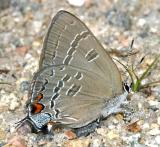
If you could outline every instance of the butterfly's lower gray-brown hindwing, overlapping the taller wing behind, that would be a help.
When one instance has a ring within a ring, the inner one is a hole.
[[[41,93],[44,98],[39,102],[45,105],[41,113],[50,113],[61,124],[84,126],[98,118],[105,106],[107,87],[98,73],[70,65],[65,69],[63,65],[48,66],[33,81],[32,102]]]

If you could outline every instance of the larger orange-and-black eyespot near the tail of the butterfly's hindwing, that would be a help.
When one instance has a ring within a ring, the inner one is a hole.
[[[44,109],[44,106],[40,103],[35,103],[30,105],[30,112],[31,114],[40,113]]]

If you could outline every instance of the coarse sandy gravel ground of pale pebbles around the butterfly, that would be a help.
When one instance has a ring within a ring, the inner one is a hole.
[[[127,52],[134,38],[133,49],[138,53],[129,57],[129,64],[138,75],[160,54],[159,0],[8,0],[0,6],[0,147],[159,147],[159,85],[130,96],[136,110],[130,123],[124,122],[122,114],[113,115],[87,137],[68,140],[63,132],[51,136],[26,133],[25,128],[24,134],[16,131],[15,123],[25,116],[28,85],[38,68],[43,37],[60,9],[84,21],[114,56]],[[143,83],[158,80],[159,63]]]

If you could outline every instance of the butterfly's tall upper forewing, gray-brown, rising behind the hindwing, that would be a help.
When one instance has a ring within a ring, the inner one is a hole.
[[[58,12],[50,24],[44,40],[39,69],[62,64],[66,65],[65,68],[70,65],[86,72],[89,70],[89,73],[94,75],[98,73],[103,77],[106,91],[97,94],[99,97],[102,95],[112,97],[122,93],[121,77],[110,56],[85,24],[66,11]],[[99,77],[95,80],[99,81]],[[102,86],[104,85],[99,84],[99,89]],[[92,90],[92,85],[88,85],[88,90],[89,93],[95,89]]]

